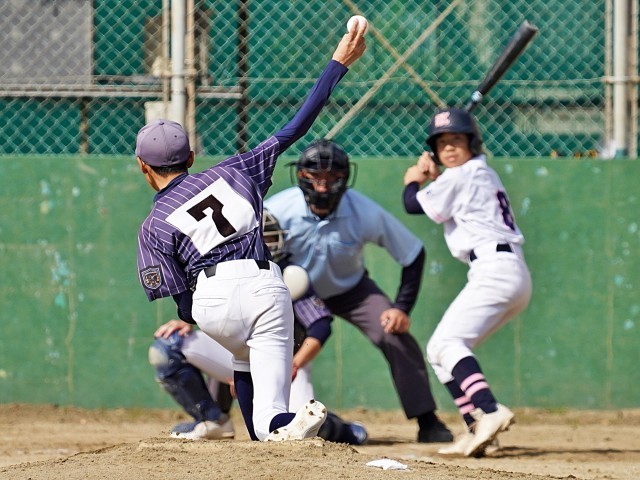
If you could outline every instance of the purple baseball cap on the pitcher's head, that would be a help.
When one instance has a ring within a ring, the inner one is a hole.
[[[146,124],[136,138],[136,156],[154,167],[171,167],[189,159],[189,137],[179,123],[155,120]]]

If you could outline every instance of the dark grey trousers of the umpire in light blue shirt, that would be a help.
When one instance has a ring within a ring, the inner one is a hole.
[[[365,274],[348,292],[323,300],[331,313],[355,325],[382,351],[407,418],[435,410],[422,349],[410,333],[384,332],[380,316],[391,302],[373,280]]]

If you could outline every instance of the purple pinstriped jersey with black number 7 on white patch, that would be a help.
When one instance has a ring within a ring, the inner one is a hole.
[[[262,239],[262,197],[280,145],[270,137],[249,152],[160,192],[138,233],[138,270],[149,300],[190,289],[203,268],[270,258]]]

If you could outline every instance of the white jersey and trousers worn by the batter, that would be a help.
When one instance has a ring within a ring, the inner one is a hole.
[[[484,155],[447,168],[416,196],[422,209],[444,225],[451,254],[469,265],[467,283],[440,320],[427,358],[443,384],[472,348],[526,308],[531,275],[498,174]]]

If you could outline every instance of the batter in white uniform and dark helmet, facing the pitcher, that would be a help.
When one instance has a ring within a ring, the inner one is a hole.
[[[467,284],[427,344],[429,363],[469,427],[440,453],[479,456],[514,415],[496,401],[472,349],[527,307],[531,276],[522,253],[524,236],[498,174],[482,154],[471,114],[438,111],[427,145],[431,153],[424,152],[405,173],[405,209],[443,224],[451,254],[469,265]]]

